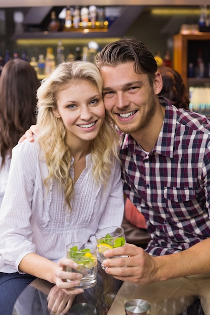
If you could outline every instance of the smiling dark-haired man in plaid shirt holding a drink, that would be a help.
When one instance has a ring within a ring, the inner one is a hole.
[[[153,315],[179,315],[197,297],[209,314],[210,120],[158,96],[162,76],[141,41],[106,45],[96,65],[105,108],[124,133],[123,190],[144,214],[151,237],[146,250],[127,244],[106,251],[112,257],[104,262],[106,272],[133,282],[132,298],[150,301]],[[182,301],[180,288],[190,292]],[[177,300],[171,301],[171,292]]]

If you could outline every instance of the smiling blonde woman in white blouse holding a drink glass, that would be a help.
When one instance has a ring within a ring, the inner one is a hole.
[[[11,315],[35,279],[55,284],[48,308],[71,308],[81,274],[65,245],[95,241],[124,212],[119,136],[105,113],[102,78],[91,62],[63,62],[37,91],[34,143],[13,148],[0,216],[0,309]],[[73,281],[67,282],[66,279]]]

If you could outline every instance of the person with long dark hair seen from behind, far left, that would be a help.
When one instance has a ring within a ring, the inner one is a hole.
[[[0,206],[10,169],[12,148],[34,124],[36,91],[39,87],[34,68],[14,59],[3,67],[0,77]]]

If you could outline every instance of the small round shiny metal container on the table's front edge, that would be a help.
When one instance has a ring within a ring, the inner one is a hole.
[[[125,303],[126,315],[148,315],[150,314],[151,304],[142,299],[133,299]]]

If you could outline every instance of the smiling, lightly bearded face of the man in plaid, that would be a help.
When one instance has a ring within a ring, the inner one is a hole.
[[[105,65],[100,72],[104,105],[118,128],[132,134],[148,127],[156,111],[156,95],[160,92],[156,78],[151,86],[147,74],[133,70],[133,62]]]

